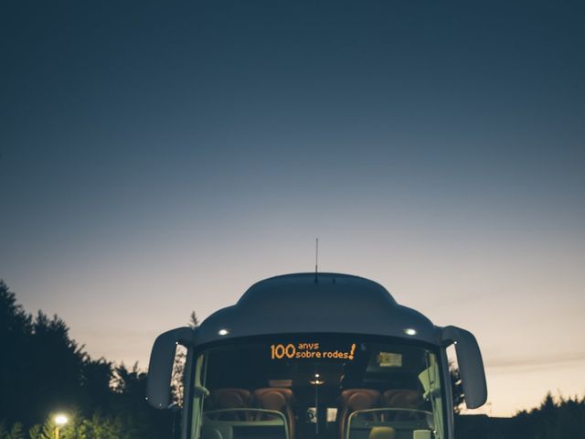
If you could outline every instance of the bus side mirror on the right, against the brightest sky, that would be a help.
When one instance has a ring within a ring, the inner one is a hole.
[[[487,400],[487,385],[484,361],[477,340],[471,332],[461,327],[443,327],[441,341],[447,346],[455,344],[465,405],[470,409],[481,407]]]

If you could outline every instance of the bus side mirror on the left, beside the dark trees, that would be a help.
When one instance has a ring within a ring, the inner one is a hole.
[[[154,340],[148,365],[146,400],[156,409],[166,409],[171,403],[171,377],[175,363],[176,345],[189,346],[195,331],[190,327],[177,327]]]

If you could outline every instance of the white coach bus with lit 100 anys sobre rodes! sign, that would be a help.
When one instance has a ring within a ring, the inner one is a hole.
[[[480,407],[487,390],[472,333],[434,326],[362,277],[286,274],[199,327],[157,337],[147,400],[173,405],[182,345],[181,439],[453,439],[453,344],[465,404]]]

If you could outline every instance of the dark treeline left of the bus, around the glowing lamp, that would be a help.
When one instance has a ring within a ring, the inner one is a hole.
[[[144,401],[136,365],[92,359],[58,316],[28,314],[0,280],[0,439],[54,438],[53,415],[67,412],[60,439],[170,437],[171,413]]]

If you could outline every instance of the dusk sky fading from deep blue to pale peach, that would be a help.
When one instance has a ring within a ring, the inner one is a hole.
[[[473,4],[472,4],[473,3]],[[582,2],[0,5],[0,277],[94,357],[314,269],[585,393]]]

